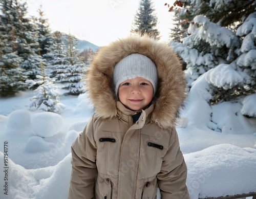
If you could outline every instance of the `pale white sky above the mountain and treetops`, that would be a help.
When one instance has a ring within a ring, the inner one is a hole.
[[[140,0],[26,0],[28,14],[38,16],[39,5],[49,19],[50,28],[75,35],[97,46],[130,34]],[[158,17],[158,30],[166,40],[172,27],[172,15],[165,3],[173,0],[153,0]]]

